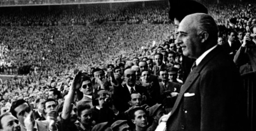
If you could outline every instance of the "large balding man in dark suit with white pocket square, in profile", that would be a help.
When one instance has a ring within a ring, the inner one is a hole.
[[[180,22],[178,43],[183,55],[196,61],[173,106],[167,131],[246,131],[241,78],[217,39],[218,27],[210,15],[194,13]]]

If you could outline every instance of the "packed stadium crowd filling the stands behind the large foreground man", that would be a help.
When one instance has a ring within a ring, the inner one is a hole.
[[[219,27],[218,44],[241,74],[252,71],[239,55],[246,40],[256,43],[248,36],[256,34],[255,3],[206,7]],[[0,74],[22,78],[0,79],[0,128],[8,116],[21,131],[154,131],[187,77],[168,11],[1,13]]]

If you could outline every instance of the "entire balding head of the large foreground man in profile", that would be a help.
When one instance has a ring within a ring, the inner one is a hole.
[[[178,28],[178,44],[183,55],[197,59],[217,44],[218,27],[213,17],[205,13],[187,15]]]

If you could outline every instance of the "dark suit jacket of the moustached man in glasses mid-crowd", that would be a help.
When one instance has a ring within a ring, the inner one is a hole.
[[[141,95],[145,95],[149,98],[147,89],[144,86],[135,84],[135,91]],[[116,109],[120,112],[124,112],[129,109],[128,101],[131,100],[131,95],[126,84],[121,86],[114,86],[113,102]]]

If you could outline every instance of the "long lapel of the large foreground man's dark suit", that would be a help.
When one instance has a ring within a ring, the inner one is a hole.
[[[199,77],[199,74],[200,74],[201,70],[203,69],[203,67],[207,64],[207,62],[209,60],[211,60],[216,54],[218,54],[220,52],[220,50],[221,50],[220,46],[217,45],[217,47],[215,49],[213,49],[211,52],[209,52],[202,59],[202,61],[199,63],[199,65],[197,67],[195,67],[192,72],[189,73],[189,76],[187,77],[185,83],[182,85],[182,87],[180,89],[180,94],[178,95],[178,97],[176,99],[176,102],[173,106],[171,115],[176,111],[184,93],[189,89],[190,86],[192,86],[193,82],[197,79],[197,77]]]

